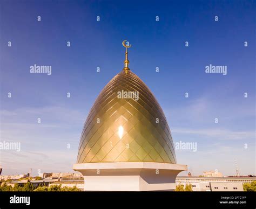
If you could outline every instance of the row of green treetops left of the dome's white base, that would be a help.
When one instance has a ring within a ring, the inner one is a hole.
[[[14,187],[7,185],[6,183],[3,183],[0,186],[0,191],[5,192],[68,192],[68,191],[80,191],[76,186],[68,187],[62,185],[51,185],[46,186],[45,184],[39,184],[39,186],[34,186],[32,183],[28,182],[24,185],[15,184]]]

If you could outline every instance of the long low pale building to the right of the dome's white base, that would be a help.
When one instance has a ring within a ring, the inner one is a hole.
[[[244,191],[242,184],[251,183],[256,177],[198,177],[178,176],[176,185],[192,185],[193,191]]]

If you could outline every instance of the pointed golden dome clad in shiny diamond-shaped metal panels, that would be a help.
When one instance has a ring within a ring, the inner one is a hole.
[[[139,99],[119,99],[122,90],[138,92]],[[163,110],[131,71],[121,71],[107,83],[84,124],[77,163],[96,162],[176,163]]]

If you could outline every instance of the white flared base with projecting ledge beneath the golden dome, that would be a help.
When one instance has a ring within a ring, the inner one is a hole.
[[[151,162],[79,163],[84,191],[171,191],[187,165]]]

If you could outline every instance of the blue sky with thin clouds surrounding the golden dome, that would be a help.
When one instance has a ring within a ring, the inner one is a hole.
[[[235,175],[237,159],[242,175],[255,175],[255,2],[0,5],[0,140],[21,142],[21,152],[1,150],[3,174],[30,168],[33,175],[38,169],[72,172],[86,116],[100,90],[122,70],[127,39],[129,67],[156,96],[174,143],[197,142],[196,152],[176,151],[178,163],[193,175],[215,169]],[[34,64],[51,65],[52,74],[31,74]],[[206,74],[210,64],[226,65],[227,75]]]

